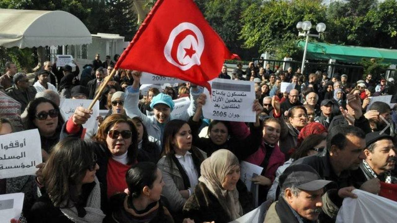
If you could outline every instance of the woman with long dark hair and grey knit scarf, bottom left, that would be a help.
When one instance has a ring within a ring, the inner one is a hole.
[[[45,192],[31,208],[28,222],[102,222],[95,146],[79,138],[54,146],[42,172]]]

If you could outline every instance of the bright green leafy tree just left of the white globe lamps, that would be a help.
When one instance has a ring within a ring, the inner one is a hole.
[[[305,20],[312,24],[326,22],[326,6],[320,0],[270,0],[251,4],[241,17],[243,47],[258,47],[260,52],[277,53],[278,58],[294,55],[299,51],[291,44],[299,39],[296,24]],[[280,49],[287,51],[280,52]]]

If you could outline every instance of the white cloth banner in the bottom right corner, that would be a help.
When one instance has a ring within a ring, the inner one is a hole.
[[[396,222],[397,202],[371,194],[364,190],[353,190],[357,198],[345,198],[336,223],[360,222]]]

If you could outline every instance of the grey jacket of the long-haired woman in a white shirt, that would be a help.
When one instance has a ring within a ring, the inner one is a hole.
[[[200,149],[198,150],[201,152],[204,158],[207,158],[207,155],[204,151]],[[165,156],[158,161],[157,166],[163,174],[163,180],[165,183],[162,192],[163,196],[167,198],[172,211],[181,211],[187,200],[182,197],[181,193],[179,193],[179,190],[185,190],[181,172],[179,172],[179,169],[174,162],[171,169],[170,163],[168,163],[168,160],[166,160]],[[199,169],[197,169],[197,173],[199,175]]]

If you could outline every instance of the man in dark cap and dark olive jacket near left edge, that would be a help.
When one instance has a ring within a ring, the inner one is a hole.
[[[19,72],[13,76],[14,84],[6,90],[8,96],[21,103],[21,111],[25,110],[27,104],[35,98],[36,89],[29,86],[29,79],[25,73]]]

